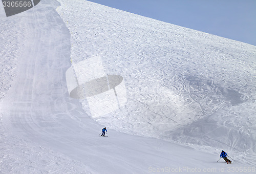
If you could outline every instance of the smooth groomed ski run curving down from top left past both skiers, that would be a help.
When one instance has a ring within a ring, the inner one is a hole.
[[[226,165],[222,161],[216,162],[219,149],[208,153],[203,149],[198,151],[162,139],[127,135],[112,129],[108,129],[109,137],[98,137],[103,126],[92,120],[80,102],[68,94],[65,73],[71,66],[72,44],[66,21],[63,22],[55,11],[58,5],[56,1],[41,1],[20,15],[20,25],[24,27],[26,37],[16,66],[17,77],[1,102],[5,143],[32,144],[32,147],[18,146],[20,150],[29,149],[30,153],[40,149],[51,151],[48,155],[53,156],[57,165],[61,155],[71,159],[67,162],[69,165],[77,164],[77,161],[79,167],[81,163],[84,165],[83,169],[74,172],[148,173],[167,167],[182,168],[184,173],[196,168],[197,171],[200,168],[202,172],[216,173]],[[4,153],[8,156],[11,152]],[[26,156],[26,151],[22,156]],[[46,159],[47,154],[41,157],[41,163]],[[236,161],[233,167],[250,167],[244,161]],[[5,173],[19,173],[17,166],[22,166],[23,171],[30,168],[30,164],[15,165],[12,161],[2,164],[1,160],[1,169]],[[44,171],[40,167],[37,164],[27,171]],[[70,172],[63,165],[59,168]],[[58,172],[51,169],[48,166],[45,172]],[[226,167],[225,173],[232,171]]]

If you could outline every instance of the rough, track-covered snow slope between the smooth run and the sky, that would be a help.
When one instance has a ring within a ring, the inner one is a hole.
[[[106,74],[124,78],[128,98],[97,121],[130,134],[255,152],[254,46],[78,2],[58,8],[72,33],[72,62],[100,56]]]

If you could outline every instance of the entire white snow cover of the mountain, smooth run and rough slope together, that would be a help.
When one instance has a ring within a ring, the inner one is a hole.
[[[0,16],[0,173],[255,173],[255,46],[88,1]]]

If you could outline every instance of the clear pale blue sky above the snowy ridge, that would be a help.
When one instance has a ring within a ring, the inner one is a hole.
[[[256,46],[256,0],[89,0]]]

